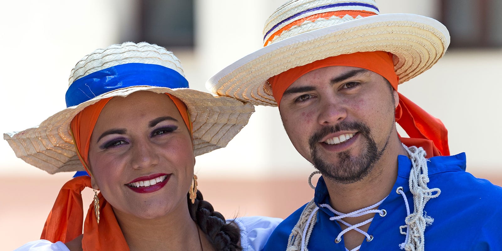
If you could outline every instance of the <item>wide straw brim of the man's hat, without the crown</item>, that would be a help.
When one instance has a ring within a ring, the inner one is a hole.
[[[394,54],[399,83],[434,65],[450,43],[440,22],[415,14],[382,14],[347,21],[272,43],[227,66],[206,87],[255,105],[277,106],[270,77],[327,57],[355,52]]]

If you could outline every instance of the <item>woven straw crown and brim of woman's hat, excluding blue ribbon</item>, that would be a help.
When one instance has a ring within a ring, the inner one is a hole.
[[[82,76],[124,63],[158,64],[184,75],[179,60],[164,48],[148,43],[124,43],[111,45],[85,56],[71,71],[70,85]],[[140,90],[167,92],[185,102],[193,123],[195,156],[225,147],[254,112],[254,106],[251,104],[228,97],[214,97],[190,88],[132,86],[110,91],[68,107],[42,121],[39,127],[4,134],[4,139],[17,157],[48,173],[84,170],[70,134],[69,125],[73,117],[100,99],[127,96]]]

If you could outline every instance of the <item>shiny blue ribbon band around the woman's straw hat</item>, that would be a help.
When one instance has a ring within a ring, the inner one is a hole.
[[[179,72],[156,64],[128,63],[112,66],[75,80],[66,91],[66,107],[75,106],[120,88],[149,85],[188,88]]]

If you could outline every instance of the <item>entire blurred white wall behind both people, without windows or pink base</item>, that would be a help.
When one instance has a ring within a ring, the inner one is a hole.
[[[121,3],[121,5],[117,5]],[[109,1],[10,1],[0,8],[0,132],[35,126],[62,109],[71,68],[94,49],[120,41],[134,26],[134,3]],[[194,51],[173,49],[191,86],[205,90],[212,74],[262,47],[265,20],[282,0],[196,1]],[[381,13],[416,13],[437,17],[437,1],[378,1]],[[397,4],[399,3],[399,4]],[[150,41],[155,42],[155,41]],[[498,116],[502,50],[452,51],[423,75],[400,86],[410,99],[441,118],[450,132],[452,153],[465,151],[479,170],[499,165],[502,136]],[[493,133],[495,132],[495,133]],[[259,178],[306,175],[312,168],[294,150],[277,108],[257,107],[248,126],[227,148],[197,157],[207,176]],[[0,175],[44,175],[17,159],[0,141]]]

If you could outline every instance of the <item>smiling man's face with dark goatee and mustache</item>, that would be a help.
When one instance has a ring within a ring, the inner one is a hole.
[[[284,92],[279,111],[293,146],[340,183],[368,175],[396,132],[397,92],[369,70],[329,66],[306,73]]]

